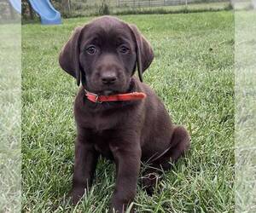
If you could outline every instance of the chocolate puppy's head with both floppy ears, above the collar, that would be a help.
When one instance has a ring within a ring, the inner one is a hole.
[[[61,68],[77,79],[78,85],[96,94],[127,91],[131,76],[143,72],[154,58],[150,44],[136,26],[111,16],[78,27],[61,50]]]

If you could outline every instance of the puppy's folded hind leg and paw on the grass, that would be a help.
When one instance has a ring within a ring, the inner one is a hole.
[[[159,174],[161,170],[170,170],[171,163],[175,163],[190,147],[190,137],[188,131],[183,126],[175,127],[170,147],[166,153],[154,158],[151,167],[143,172],[143,187],[148,195],[154,193],[154,187],[160,181]]]

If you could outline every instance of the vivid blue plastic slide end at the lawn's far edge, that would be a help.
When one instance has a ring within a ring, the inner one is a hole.
[[[49,0],[29,0],[29,2],[32,9],[40,15],[42,25],[61,24],[61,14],[59,11],[55,10]]]

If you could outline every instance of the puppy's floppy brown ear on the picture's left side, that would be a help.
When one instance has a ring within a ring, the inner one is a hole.
[[[61,49],[59,63],[61,68],[73,78],[77,79],[78,86],[81,81],[81,70],[79,66],[79,37],[83,27],[77,27],[67,43]]]

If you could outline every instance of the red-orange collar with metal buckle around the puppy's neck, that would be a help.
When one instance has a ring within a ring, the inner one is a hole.
[[[91,93],[86,89],[84,89],[84,91],[87,99],[94,103],[102,103],[108,101],[136,101],[147,97],[147,95],[142,92],[131,92],[117,95],[96,95],[95,93]]]

